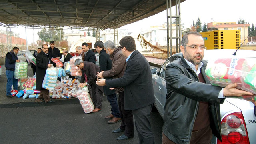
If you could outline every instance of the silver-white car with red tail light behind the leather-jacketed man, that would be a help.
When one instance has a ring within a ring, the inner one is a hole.
[[[228,58],[232,57],[235,50],[205,50],[204,60],[210,60],[214,57]],[[156,101],[154,106],[159,114],[164,116],[164,105],[166,102],[166,81],[165,70],[170,62],[180,58],[182,53],[170,56],[162,65],[160,70],[151,69],[154,95]],[[256,58],[256,51],[238,50],[236,56],[239,58]],[[256,144],[256,107],[252,102],[238,98],[226,98],[223,104],[220,104],[221,114],[221,143],[213,136],[212,144]]]

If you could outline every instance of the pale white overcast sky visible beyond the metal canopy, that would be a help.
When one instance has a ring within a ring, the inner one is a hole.
[[[186,0],[181,3],[181,23],[184,28],[190,28],[193,21],[196,23],[198,18],[204,23],[210,22],[238,22],[240,18],[245,22],[256,25],[256,0]],[[175,7],[172,7],[172,14],[175,14]],[[149,18],[138,22],[122,26],[122,29],[128,29],[129,32],[140,32],[142,28],[162,25],[166,22],[166,10]],[[174,19],[173,19],[174,20]],[[172,21],[173,21],[172,20]],[[0,26],[0,30],[6,31],[6,28]],[[38,40],[37,32],[40,29],[20,29],[11,28],[12,31],[20,33],[20,38],[26,39],[28,44]],[[69,33],[70,31],[64,31]],[[32,34],[34,33],[34,38]],[[34,40],[33,40],[34,39]]]

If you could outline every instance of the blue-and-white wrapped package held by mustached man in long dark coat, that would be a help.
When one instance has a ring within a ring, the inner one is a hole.
[[[58,78],[58,69],[51,66],[47,68],[42,87],[47,90],[54,90]]]

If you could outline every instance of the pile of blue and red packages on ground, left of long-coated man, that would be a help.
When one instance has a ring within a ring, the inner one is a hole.
[[[15,94],[18,98],[38,98],[40,91],[36,90],[36,78],[28,77],[19,79],[18,86],[20,91]]]

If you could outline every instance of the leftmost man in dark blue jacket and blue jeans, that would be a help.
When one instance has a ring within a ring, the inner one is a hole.
[[[15,70],[15,62],[20,62],[18,60],[18,47],[14,47],[10,52],[8,52],[5,56],[5,67],[6,67],[6,76],[7,76],[7,84],[6,84],[6,96],[12,98],[11,90],[12,86],[14,90],[18,90],[18,79],[14,78],[14,70]]]

